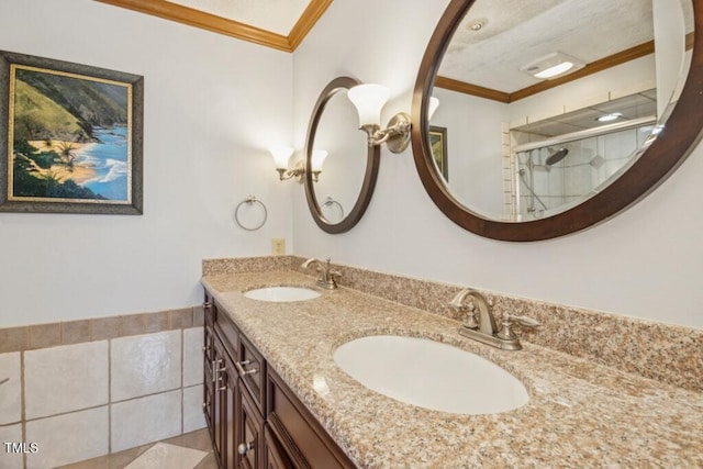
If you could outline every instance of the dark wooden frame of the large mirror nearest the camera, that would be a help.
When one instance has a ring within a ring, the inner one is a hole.
[[[476,0],[451,0],[433,33],[415,81],[412,145],[415,167],[433,202],[453,222],[480,236],[531,242],[574,233],[609,220],[633,205],[673,172],[689,156],[703,129],[703,0],[691,0],[693,51],[685,85],[663,131],[620,178],[595,196],[565,212],[527,222],[501,222],[472,212],[454,198],[436,170],[426,119],[442,58],[455,31]]]

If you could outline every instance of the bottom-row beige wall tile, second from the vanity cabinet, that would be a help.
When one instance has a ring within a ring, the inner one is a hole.
[[[181,390],[111,405],[112,451],[181,433]]]

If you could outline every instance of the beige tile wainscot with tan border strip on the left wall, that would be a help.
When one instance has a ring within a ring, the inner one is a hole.
[[[46,468],[205,426],[202,309],[0,330],[0,469]]]

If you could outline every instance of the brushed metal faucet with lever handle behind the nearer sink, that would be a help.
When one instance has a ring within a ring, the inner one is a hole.
[[[471,298],[473,304],[478,308],[478,317],[475,308],[468,309],[465,305],[467,298]],[[459,327],[459,334],[504,350],[520,350],[523,348],[517,335],[512,330],[514,324],[524,327],[536,327],[539,325],[539,323],[532,317],[515,316],[505,311],[503,312],[502,324],[499,330],[495,325],[495,316],[491,311],[488,300],[481,292],[473,289],[465,289],[458,292],[449,302],[449,306],[457,310],[466,309],[469,312],[466,323]]]

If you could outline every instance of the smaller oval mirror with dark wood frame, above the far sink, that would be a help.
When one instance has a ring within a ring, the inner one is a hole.
[[[327,233],[354,227],[371,200],[380,150],[358,130],[356,108],[347,98],[359,81],[335,78],[313,109],[305,142],[305,197],[315,223]]]

